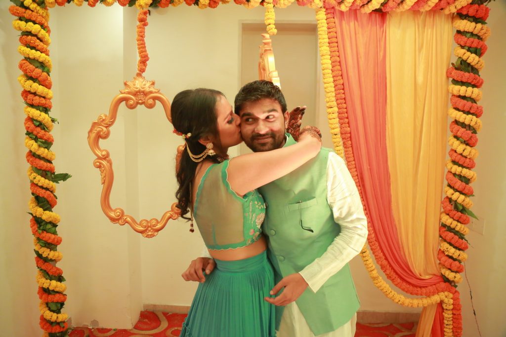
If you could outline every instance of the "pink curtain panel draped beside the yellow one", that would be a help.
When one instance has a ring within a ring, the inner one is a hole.
[[[352,150],[365,207],[379,247],[397,275],[416,287],[442,282],[441,276],[420,278],[407,263],[392,212],[386,148],[387,14],[335,11]],[[430,332],[436,308],[424,308],[421,319]],[[441,318],[441,315],[438,315]],[[435,320],[432,336],[442,335]]]

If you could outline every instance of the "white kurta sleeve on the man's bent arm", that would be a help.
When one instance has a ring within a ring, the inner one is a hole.
[[[327,162],[327,202],[341,233],[321,257],[300,272],[315,293],[360,253],[367,239],[367,220],[357,187],[344,160],[333,152]]]

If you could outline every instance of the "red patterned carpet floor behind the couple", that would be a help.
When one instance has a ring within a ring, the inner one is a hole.
[[[181,333],[186,314],[143,311],[131,330],[76,327],[70,337],[174,337]],[[355,337],[414,337],[415,323],[360,324]]]

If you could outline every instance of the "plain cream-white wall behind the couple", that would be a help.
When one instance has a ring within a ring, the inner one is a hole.
[[[6,277],[0,279],[0,289],[5,303],[10,305],[0,309],[0,325],[8,335],[31,336],[39,331],[36,268],[29,217],[25,215],[29,189],[23,103],[16,80],[18,34],[11,28],[8,5],[0,3],[0,68],[6,78],[0,83],[0,102],[6,112],[4,125],[9,125],[1,135],[7,157],[2,161],[1,173],[7,179],[1,182],[5,229],[0,243],[9,255],[3,254],[0,259],[0,267],[8,270]],[[500,127],[506,122],[500,96],[505,88],[504,69],[498,71],[496,65],[505,52],[499,38],[506,20],[502,2],[490,7],[493,34],[482,72],[484,128],[479,135],[481,155],[478,180],[474,183],[474,209],[484,216],[486,227],[483,236],[469,235],[473,247],[467,268],[482,335],[495,337],[504,335],[504,328],[497,332],[502,334],[494,334],[492,327],[497,327],[497,323],[500,326],[501,304],[506,300],[499,288],[506,276],[499,251],[505,236],[500,225],[506,217],[506,179],[502,177],[506,149],[497,143],[501,141]],[[55,164],[57,171],[73,175],[58,186],[59,204],[55,208],[62,216],[59,232],[63,236],[60,250],[64,259],[59,266],[67,278],[65,312],[75,325],[97,320],[100,326],[129,327],[136,321],[142,304],[190,304],[196,284],[184,282],[180,274],[191,259],[200,255],[203,244],[197,232],[189,233],[184,221],[170,221],[156,237],[146,239],[126,226],[110,223],[100,209],[99,172],[92,165],[94,156],[86,137],[91,122],[107,113],[123,81],[130,80],[136,72],[136,11],[119,6],[91,9],[67,5],[51,13],[55,83],[52,115],[60,120],[53,131]],[[155,80],[155,86],[169,100],[186,88],[212,87],[233,101],[242,84],[240,23],[262,23],[263,19],[263,8],[246,10],[235,4],[204,11],[186,5],[152,10],[146,28],[150,60],[145,76]],[[314,11],[293,5],[277,10],[276,20],[314,22]],[[251,66],[256,69],[257,64]],[[322,98],[320,95],[320,101]],[[324,103],[316,104],[316,111],[324,111]],[[322,130],[328,130],[324,114],[313,118],[323,123]],[[137,219],[149,219],[159,218],[175,201],[174,155],[181,139],[172,129],[159,106],[153,110],[120,110],[110,138],[101,142],[111,151],[114,163],[113,207],[122,207]],[[236,153],[237,149],[231,150],[232,155]],[[410,311],[386,299],[372,285],[359,259],[352,262],[352,270],[361,310]],[[465,337],[471,337],[476,333],[467,285],[460,285],[459,290],[465,305]]]

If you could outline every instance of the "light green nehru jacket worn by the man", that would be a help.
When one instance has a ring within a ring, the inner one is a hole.
[[[296,143],[287,134],[285,146]],[[269,258],[276,282],[319,258],[341,232],[327,203],[327,160],[320,153],[297,170],[260,188],[267,203],[263,232],[269,238]],[[309,287],[296,301],[315,335],[347,323],[360,304],[346,264],[314,293]],[[277,307],[278,323],[283,307]]]

